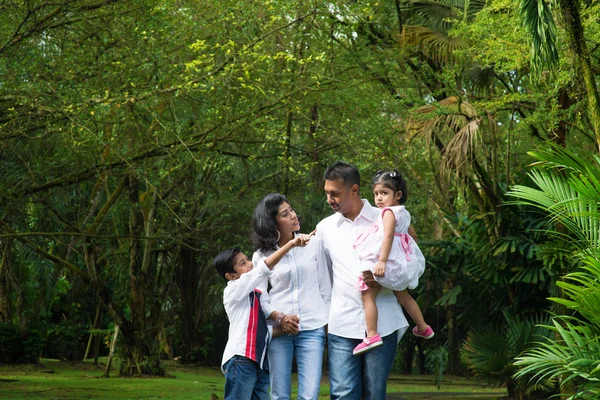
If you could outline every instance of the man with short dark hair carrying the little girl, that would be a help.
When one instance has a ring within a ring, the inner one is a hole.
[[[335,214],[317,225],[333,272],[328,327],[331,398],[382,400],[385,398],[396,346],[408,323],[394,293],[382,288],[377,296],[377,331],[383,345],[362,355],[352,351],[365,337],[366,323],[357,277],[363,273],[353,252],[356,237],[375,222],[380,210],[360,198],[360,174],[351,164],[337,161],[324,174],[327,202]],[[371,272],[363,273],[367,285],[378,285]]]

